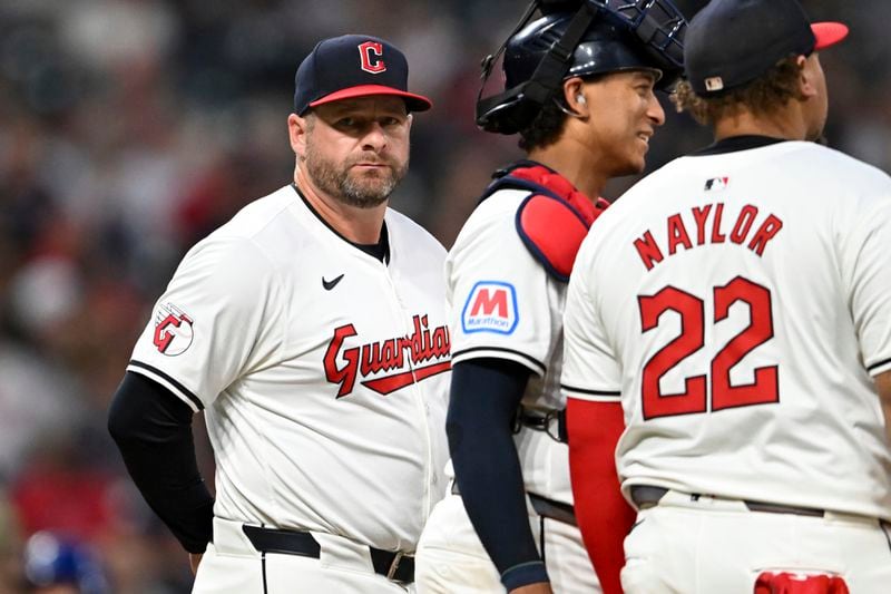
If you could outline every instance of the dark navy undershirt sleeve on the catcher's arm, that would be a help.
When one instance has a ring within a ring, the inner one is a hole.
[[[529,527],[512,430],[530,373],[503,359],[457,363],[446,425],[468,516],[508,591],[548,581]]]

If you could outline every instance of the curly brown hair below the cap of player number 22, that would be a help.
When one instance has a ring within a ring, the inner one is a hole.
[[[678,113],[687,111],[707,126],[743,109],[756,116],[770,115],[800,96],[801,70],[797,56],[790,56],[748,85],[715,96],[697,95],[688,81],[682,80],[672,94],[672,103]]]

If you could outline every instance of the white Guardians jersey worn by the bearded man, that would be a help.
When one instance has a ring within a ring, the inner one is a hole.
[[[186,254],[128,371],[205,408],[217,517],[413,551],[446,489],[444,250],[388,211],[390,259],[293,186]]]

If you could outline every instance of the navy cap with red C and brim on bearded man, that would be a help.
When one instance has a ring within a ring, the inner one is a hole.
[[[409,92],[409,62],[392,43],[366,35],[344,35],[320,41],[301,62],[294,79],[294,113],[369,95],[393,95],[409,111],[432,107],[427,97]]]

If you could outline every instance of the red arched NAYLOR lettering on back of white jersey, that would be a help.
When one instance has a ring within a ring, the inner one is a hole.
[[[665,259],[665,249],[668,255],[677,253],[678,249],[693,250],[695,245],[717,244],[730,240],[732,243],[745,245],[757,255],[764,255],[764,249],[783,228],[783,222],[774,214],[758,216],[757,206],[746,204],[733,220],[732,225],[722,225],[724,217],[724,203],[694,206],[689,213],[673,214],[666,218],[665,244],[660,247],[650,230],[634,241],[634,247],[640,256],[644,266],[649,271]],[[758,225],[755,226],[755,222]],[[755,231],[753,231],[755,230]],[[694,232],[692,234],[691,232]]]

